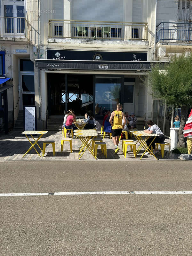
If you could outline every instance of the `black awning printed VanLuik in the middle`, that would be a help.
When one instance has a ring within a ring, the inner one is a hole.
[[[150,70],[156,63],[168,61],[35,60],[36,68],[84,70]]]

